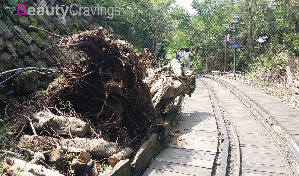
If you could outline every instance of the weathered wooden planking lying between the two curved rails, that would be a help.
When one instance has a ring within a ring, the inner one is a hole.
[[[279,149],[250,111],[220,83],[208,78],[203,80],[213,86],[236,129],[241,155],[240,175],[287,176]]]

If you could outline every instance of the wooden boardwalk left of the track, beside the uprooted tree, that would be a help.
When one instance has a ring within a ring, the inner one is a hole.
[[[186,97],[178,128],[184,145],[170,142],[143,176],[210,176],[218,146],[218,130],[208,90],[200,80]]]

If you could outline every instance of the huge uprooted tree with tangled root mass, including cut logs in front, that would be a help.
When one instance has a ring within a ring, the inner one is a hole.
[[[138,53],[130,43],[101,27],[69,38],[38,30],[59,38],[59,47],[83,55],[66,66],[55,60],[62,76],[46,92],[32,94],[22,114],[33,119],[30,124],[34,135],[23,135],[20,146],[43,145],[39,149],[42,154],[51,154],[60,167],[66,153],[80,153],[72,161],[76,166],[63,167],[62,173],[86,166],[91,157],[103,159],[120,152],[113,155],[112,163],[130,157],[132,153],[120,151],[119,146],[132,147],[126,148],[131,152],[138,150],[154,131],[157,114],[177,96],[191,96],[195,89],[193,73],[184,74],[178,60],[152,69],[151,60],[144,57],[149,54],[147,49]],[[16,162],[24,164],[6,158],[4,169]],[[28,173],[36,170],[32,163],[27,166]]]

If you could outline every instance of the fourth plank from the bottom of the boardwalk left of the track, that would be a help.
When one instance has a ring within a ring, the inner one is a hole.
[[[173,149],[163,149],[157,156],[163,156],[163,157],[179,156],[184,158],[195,158],[195,159],[208,160],[208,161],[214,161],[216,157],[215,155],[210,155],[206,153],[193,152],[193,150],[182,151],[182,150],[173,150]]]

